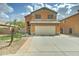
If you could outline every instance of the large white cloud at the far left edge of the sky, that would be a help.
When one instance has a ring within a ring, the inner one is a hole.
[[[7,13],[12,13],[14,9],[7,4],[0,3],[0,21],[8,21],[9,15]]]

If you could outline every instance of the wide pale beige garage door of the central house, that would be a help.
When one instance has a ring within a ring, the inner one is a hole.
[[[55,26],[35,26],[36,35],[54,35]]]

